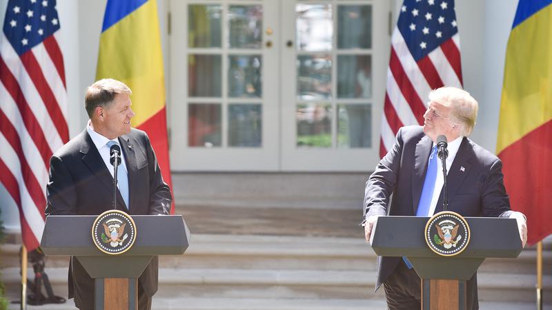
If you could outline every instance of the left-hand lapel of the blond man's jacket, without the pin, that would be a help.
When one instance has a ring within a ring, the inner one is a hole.
[[[416,214],[418,203],[420,203],[420,196],[422,196],[422,187],[426,178],[431,147],[433,147],[433,141],[428,136],[423,136],[416,145],[414,171],[412,174],[412,209],[414,214]]]

